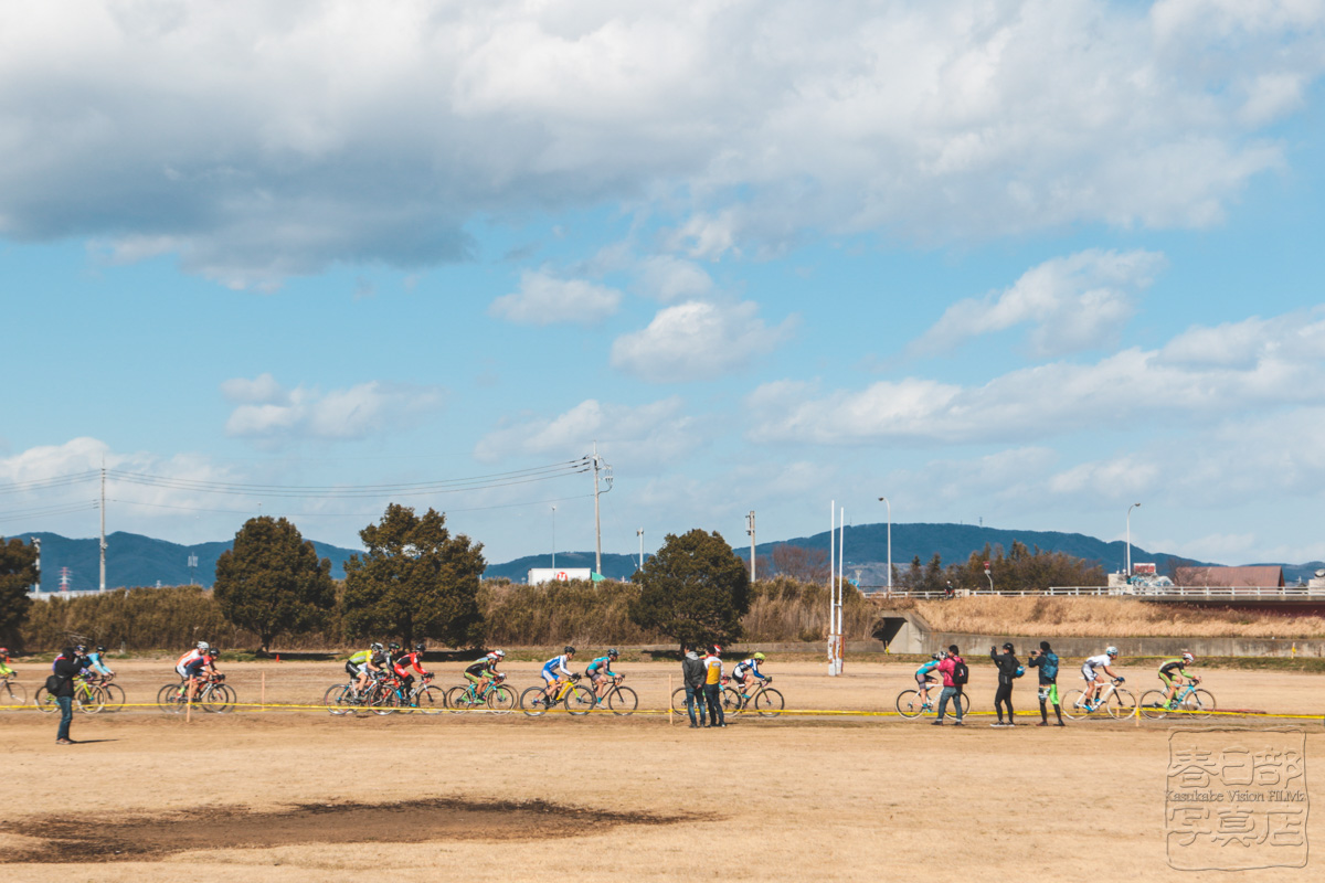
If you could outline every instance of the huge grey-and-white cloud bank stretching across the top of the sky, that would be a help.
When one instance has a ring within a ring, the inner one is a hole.
[[[602,204],[696,258],[1200,226],[1283,165],[1259,127],[1318,81],[1321,23],[1308,0],[8,4],[0,234],[270,287]]]

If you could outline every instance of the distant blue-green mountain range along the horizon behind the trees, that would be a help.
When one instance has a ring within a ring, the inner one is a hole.
[[[72,590],[95,589],[99,579],[99,560],[95,539],[72,540],[58,534],[13,534],[11,536],[41,539],[41,588],[44,592],[58,592],[61,575],[68,576]],[[913,557],[922,564],[929,563],[935,552],[943,564],[965,561],[971,552],[990,545],[1004,549],[1019,540],[1028,547],[1052,552],[1064,552],[1075,557],[1098,563],[1105,571],[1121,571],[1126,560],[1126,548],[1121,541],[1105,543],[1084,534],[1060,534],[1057,531],[1008,531],[973,524],[893,524],[893,564],[906,569]],[[186,585],[196,582],[211,586],[216,577],[216,561],[221,552],[231,548],[233,540],[180,545],[156,540],[138,534],[115,532],[106,537],[106,585]],[[799,545],[807,549],[828,552],[828,532],[812,536],[799,536],[775,543],[761,543],[755,548],[759,557],[768,557],[778,545]],[[331,576],[344,579],[344,563],[359,549],[347,549],[313,540],[318,556],[331,560]],[[737,553],[749,560],[750,547],[737,547]],[[189,567],[189,556],[196,556],[197,564]],[[860,524],[847,528],[847,576],[859,579],[861,585],[884,585],[888,581],[888,526]],[[1162,572],[1170,560],[1182,564],[1211,564],[1192,561],[1166,552],[1150,552],[1138,545],[1132,547],[1132,561],[1154,561]],[[1306,564],[1281,564],[1277,561],[1248,561],[1247,564],[1275,564],[1284,568],[1284,579],[1296,582],[1309,577],[1316,569],[1325,567],[1321,561]],[[504,564],[489,564],[485,577],[505,577],[523,582],[530,568],[551,567],[551,555],[527,555]],[[633,555],[603,555],[603,575],[610,579],[627,580],[635,573],[639,561]],[[558,552],[556,567],[592,568],[592,552]]]

